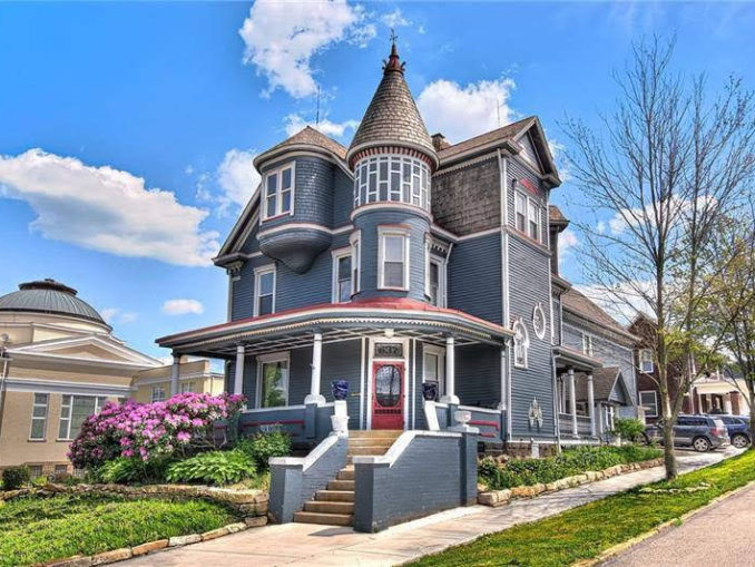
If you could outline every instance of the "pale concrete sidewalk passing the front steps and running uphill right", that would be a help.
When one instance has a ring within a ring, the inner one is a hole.
[[[683,472],[689,471],[718,462],[734,452],[738,451],[728,449],[726,453],[683,453],[679,468]],[[501,508],[455,508],[380,534],[359,534],[351,528],[308,524],[268,526],[127,563],[129,567],[395,565],[663,478],[663,468],[656,467],[531,500],[514,500]]]

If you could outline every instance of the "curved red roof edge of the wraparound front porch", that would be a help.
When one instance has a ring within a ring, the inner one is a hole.
[[[409,297],[374,297],[374,299],[357,299],[353,300],[350,303],[318,303],[315,305],[308,305],[306,307],[297,307],[297,309],[291,309],[286,311],[281,311],[278,313],[269,313],[267,315],[258,315],[256,317],[246,317],[246,319],[238,319],[236,321],[229,321],[227,323],[220,323],[217,325],[210,325],[210,326],[205,326],[200,329],[194,329],[192,331],[185,331],[183,333],[176,333],[167,336],[163,336],[160,339],[157,339],[157,343],[163,343],[166,341],[179,339],[184,335],[192,334],[192,333],[207,333],[210,331],[217,331],[220,329],[226,329],[229,326],[236,326],[236,325],[243,325],[244,323],[256,323],[259,321],[265,321],[267,319],[273,319],[273,317],[280,317],[280,316],[290,316],[294,315],[296,313],[302,313],[306,311],[329,311],[329,310],[342,310],[346,311],[350,309],[385,309],[385,310],[404,310],[404,311],[416,311],[416,312],[428,312],[428,313],[444,313],[449,315],[455,315],[462,319],[465,319],[467,321],[487,326],[496,332],[506,332],[507,329],[492,323],[490,321],[486,321],[484,319],[477,317],[474,315],[470,315],[469,313],[465,313],[463,311],[459,311],[455,309],[449,309],[449,307],[437,307],[435,305],[430,305],[429,303],[421,302],[419,300],[411,300]],[[510,332],[509,332],[510,333]],[[509,334],[507,333],[507,334]]]

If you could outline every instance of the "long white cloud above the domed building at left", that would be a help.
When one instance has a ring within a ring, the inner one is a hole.
[[[31,228],[85,248],[185,266],[209,265],[218,234],[203,231],[207,211],[110,166],[88,166],[41,149],[0,155],[0,198],[26,201]]]

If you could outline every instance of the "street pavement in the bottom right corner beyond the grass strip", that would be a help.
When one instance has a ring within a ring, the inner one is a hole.
[[[610,567],[664,565],[753,565],[755,486],[737,492],[601,564]]]

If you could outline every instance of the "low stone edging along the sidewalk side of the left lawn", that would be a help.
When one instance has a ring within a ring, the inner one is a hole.
[[[95,565],[108,565],[117,561],[124,561],[134,557],[141,557],[163,549],[175,547],[184,547],[192,544],[199,544],[200,541],[209,541],[219,537],[229,536],[231,534],[238,534],[249,528],[257,528],[267,524],[266,516],[249,516],[244,518],[244,521],[228,524],[217,529],[205,531],[204,534],[189,534],[187,536],[174,536],[168,539],[158,539],[156,541],[148,541],[134,547],[124,547],[120,549],[112,549],[110,551],[102,551],[91,556],[75,555],[67,559],[56,559],[49,563],[36,564],[36,567],[94,567]]]

